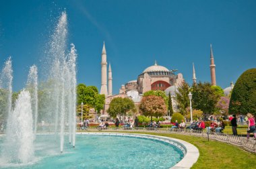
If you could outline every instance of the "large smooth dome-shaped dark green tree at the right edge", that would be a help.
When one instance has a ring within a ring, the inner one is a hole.
[[[256,68],[246,70],[237,79],[230,98],[229,113],[256,115]]]

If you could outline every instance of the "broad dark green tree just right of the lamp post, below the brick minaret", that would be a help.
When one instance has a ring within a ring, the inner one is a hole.
[[[209,82],[199,82],[192,88],[192,106],[193,109],[199,109],[203,113],[213,114],[218,111],[216,103],[220,96],[216,95],[216,91],[211,87]]]

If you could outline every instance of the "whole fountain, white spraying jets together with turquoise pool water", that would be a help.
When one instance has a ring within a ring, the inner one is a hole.
[[[49,64],[42,70],[46,79],[38,80],[40,71],[31,66],[26,88],[15,104],[11,58],[5,62],[0,92],[5,94],[7,128],[0,137],[0,168],[129,168],[131,164],[170,168],[191,151],[177,139],[137,134],[86,133],[76,140],[77,54],[73,44],[67,52],[66,43],[67,15],[63,12],[51,36]],[[75,144],[79,151],[74,151]]]

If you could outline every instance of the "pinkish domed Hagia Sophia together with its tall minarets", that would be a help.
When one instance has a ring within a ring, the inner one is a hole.
[[[214,54],[212,52],[212,45],[210,45],[210,72],[211,72],[212,85],[216,85],[215,67],[216,65],[214,64]],[[102,117],[108,117],[106,110],[109,107],[110,101],[115,97],[122,97],[122,98],[128,97],[135,103],[135,105],[139,105],[141,98],[143,96],[143,93],[146,93],[147,91],[151,91],[151,90],[164,91],[166,95],[170,93],[172,95],[172,106],[174,108],[174,111],[177,110],[175,107],[175,105],[177,105],[177,102],[173,96],[175,95],[175,91],[177,91],[177,88],[179,87],[179,85],[182,82],[184,82],[185,79],[183,78],[183,74],[181,72],[178,74],[175,74],[175,72],[177,72],[177,69],[168,70],[168,68],[158,65],[157,62],[155,61],[154,65],[149,66],[137,76],[137,80],[130,80],[126,84],[123,84],[119,89],[119,94],[113,95],[112,70],[109,64],[108,76],[107,76],[106,48],[105,48],[105,44],[103,44],[100,94],[104,94],[106,99],[105,99],[104,110],[102,111]],[[192,79],[193,79],[193,83],[196,83],[197,78],[195,76],[194,64],[193,64]],[[232,91],[233,86],[234,84],[231,83],[230,87],[227,87],[226,89],[224,89],[224,95],[229,95],[230,91]]]

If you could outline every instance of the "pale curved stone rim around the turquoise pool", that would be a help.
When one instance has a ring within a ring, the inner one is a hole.
[[[150,134],[140,134],[140,133],[115,133],[115,132],[77,132],[77,135],[116,135],[116,136],[130,136],[130,137],[141,137],[141,138],[148,138],[148,139],[156,139],[160,140],[162,142],[166,142],[168,144],[179,144],[185,152],[184,157],[181,161],[179,161],[177,164],[172,166],[172,169],[178,169],[178,168],[191,168],[195,162],[197,162],[197,159],[199,158],[199,150],[193,145],[188,142],[185,142],[184,140],[181,139],[176,139],[172,137],[164,137],[160,135],[150,135]]]

